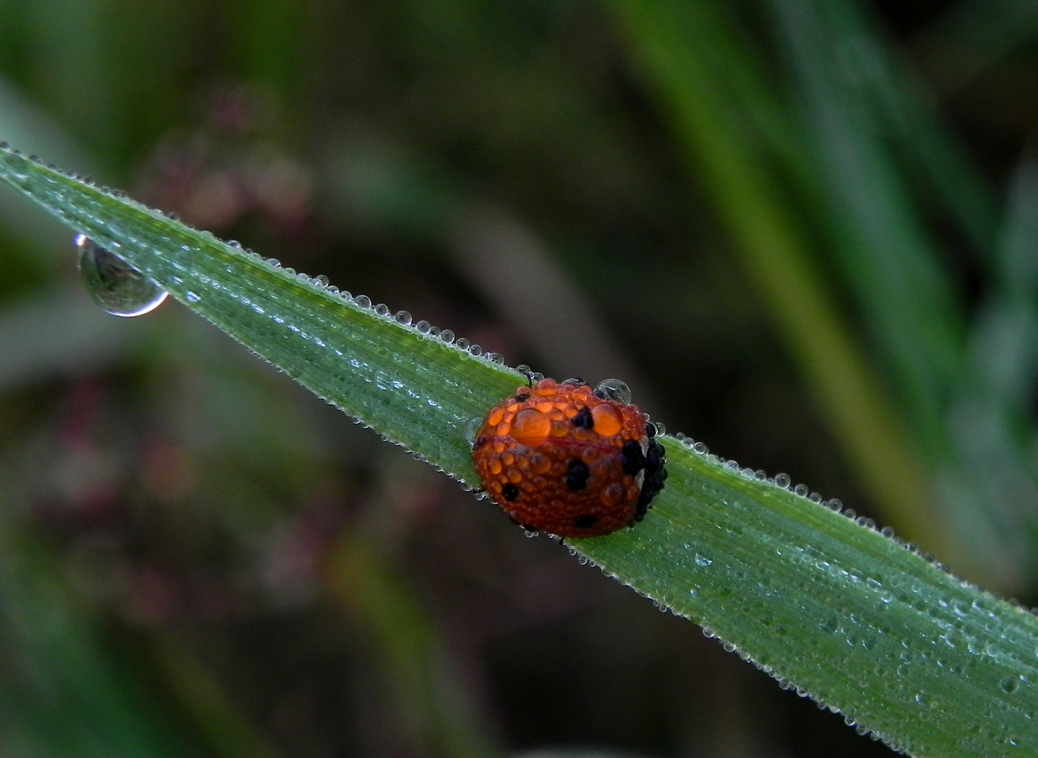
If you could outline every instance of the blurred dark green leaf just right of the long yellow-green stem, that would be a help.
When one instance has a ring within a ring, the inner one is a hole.
[[[946,454],[941,400],[957,377],[962,318],[882,124],[810,0],[773,2],[830,201],[831,254],[880,346],[931,459]]]

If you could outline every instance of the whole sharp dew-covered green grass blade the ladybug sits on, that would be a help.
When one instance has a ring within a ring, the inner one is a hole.
[[[515,372],[20,156],[0,152],[0,180],[325,398],[473,480],[465,421],[513,390]],[[849,514],[687,441],[663,443],[671,477],[654,510],[637,529],[574,540],[583,557],[893,746],[1038,755],[1038,619]]]

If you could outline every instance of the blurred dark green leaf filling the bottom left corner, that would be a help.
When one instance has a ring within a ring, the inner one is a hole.
[[[3,472],[7,475],[8,472]],[[3,513],[10,502],[4,498]],[[0,750],[26,758],[195,755],[99,639],[38,545],[0,517]]]

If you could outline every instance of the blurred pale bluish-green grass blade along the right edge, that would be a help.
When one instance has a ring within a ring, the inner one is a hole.
[[[969,497],[961,529],[1008,582],[1035,575],[1038,434],[1031,411],[1038,374],[1038,166],[1011,187],[993,258],[994,286],[977,309],[965,378],[952,398],[949,437],[958,469],[948,484]],[[1006,486],[1006,482],[1015,482]],[[953,501],[954,502],[954,501]]]

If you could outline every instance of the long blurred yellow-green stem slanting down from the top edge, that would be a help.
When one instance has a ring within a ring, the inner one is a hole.
[[[882,517],[946,550],[928,475],[811,262],[807,234],[766,173],[715,72],[728,31],[705,2],[613,2],[700,184]]]

